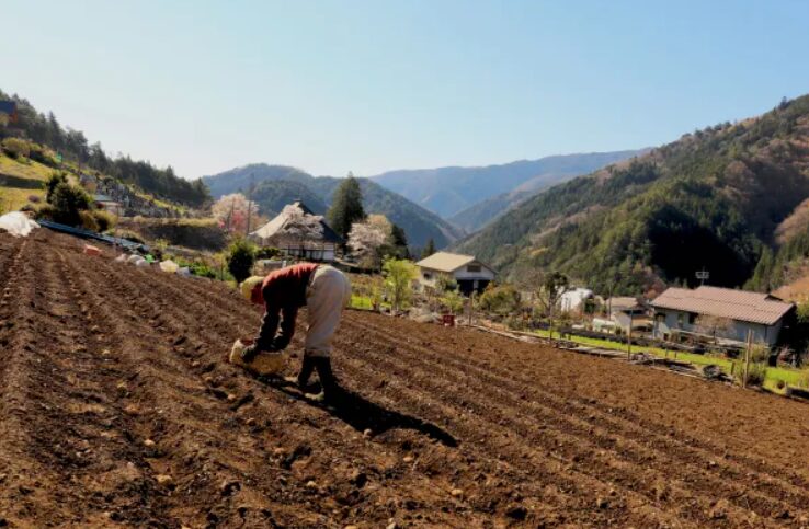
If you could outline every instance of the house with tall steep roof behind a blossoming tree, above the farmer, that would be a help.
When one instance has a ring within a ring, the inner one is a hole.
[[[290,257],[331,263],[345,241],[320,216],[295,200],[275,218],[250,233],[262,246],[275,246]]]

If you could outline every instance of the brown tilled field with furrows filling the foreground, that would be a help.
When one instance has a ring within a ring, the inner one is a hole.
[[[805,404],[349,311],[319,407],[223,363],[235,291],[81,245],[0,235],[0,526],[809,526]]]

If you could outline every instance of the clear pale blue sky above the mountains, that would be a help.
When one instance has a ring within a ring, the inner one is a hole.
[[[660,145],[809,92],[809,2],[0,4],[0,88],[186,177]]]

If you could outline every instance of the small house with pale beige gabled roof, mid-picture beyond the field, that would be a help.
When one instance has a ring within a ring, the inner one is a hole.
[[[436,252],[415,265],[419,267],[419,283],[422,288],[435,288],[436,281],[443,276],[455,279],[458,290],[465,296],[472,291],[482,292],[497,275],[491,266],[481,263],[474,255],[449,252]]]

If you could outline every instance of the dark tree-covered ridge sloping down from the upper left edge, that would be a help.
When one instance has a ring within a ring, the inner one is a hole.
[[[106,176],[134,185],[164,200],[191,207],[202,207],[210,195],[201,180],[187,181],[174,173],[171,166],[158,169],[151,163],[127,157],[111,158],[101,143],[90,145],[81,130],[62,127],[53,112],[47,115],[26,100],[8,95],[0,90],[0,100],[16,103],[18,120],[0,127],[2,137],[20,137],[52,149],[65,160],[90,168]]]

